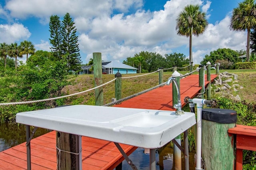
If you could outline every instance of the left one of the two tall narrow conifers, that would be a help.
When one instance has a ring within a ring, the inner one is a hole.
[[[52,53],[54,57],[56,57],[58,60],[62,59],[62,33],[61,33],[61,22],[60,17],[58,16],[50,16],[50,43],[52,44],[52,47],[50,49],[52,50]]]

